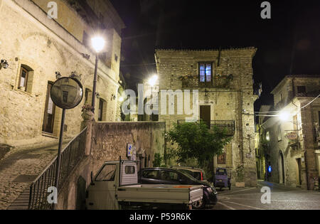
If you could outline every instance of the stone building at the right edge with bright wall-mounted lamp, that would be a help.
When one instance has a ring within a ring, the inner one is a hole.
[[[319,94],[319,75],[287,75],[272,91],[275,116],[261,124],[270,181],[314,188],[320,176]]]

